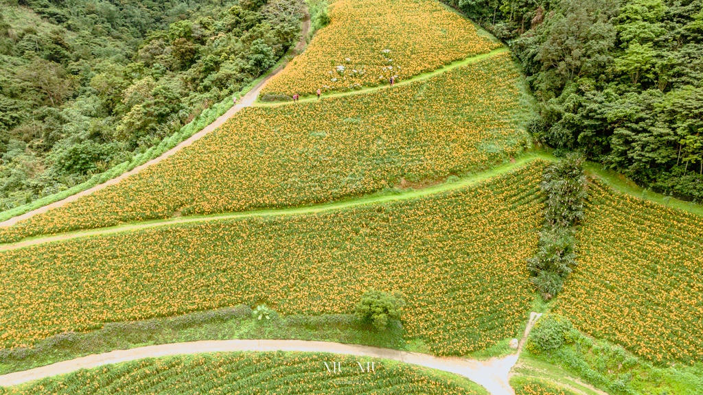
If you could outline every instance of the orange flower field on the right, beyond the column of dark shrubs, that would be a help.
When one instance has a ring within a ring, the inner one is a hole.
[[[591,185],[557,311],[651,361],[703,360],[703,219]]]

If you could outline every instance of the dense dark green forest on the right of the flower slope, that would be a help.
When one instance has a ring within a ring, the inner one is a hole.
[[[447,1],[522,61],[535,136],[703,202],[702,0]]]

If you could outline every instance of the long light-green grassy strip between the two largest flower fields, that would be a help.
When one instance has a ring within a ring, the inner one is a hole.
[[[19,248],[31,247],[33,245],[51,243],[51,242],[61,242],[65,240],[72,240],[76,238],[88,238],[100,235],[110,235],[113,233],[124,233],[130,231],[141,231],[143,229],[149,228],[160,228],[165,226],[174,226],[180,224],[191,224],[191,223],[204,223],[209,221],[223,221],[227,219],[245,219],[254,217],[267,217],[267,216],[293,216],[293,215],[305,215],[305,214],[316,214],[320,212],[330,212],[342,209],[349,209],[354,207],[361,207],[364,205],[380,204],[385,202],[396,202],[401,200],[411,200],[418,197],[424,197],[428,195],[435,195],[438,193],[443,193],[451,190],[457,190],[460,188],[465,188],[467,186],[473,186],[481,181],[486,181],[493,178],[494,176],[499,176],[501,174],[508,173],[509,171],[519,169],[529,162],[534,160],[550,160],[548,155],[543,155],[541,153],[528,153],[519,157],[515,162],[508,164],[501,164],[493,167],[487,171],[482,171],[477,174],[472,174],[459,181],[441,183],[437,186],[431,186],[428,188],[423,188],[419,190],[408,190],[406,192],[387,194],[387,195],[366,195],[362,197],[356,197],[349,200],[341,200],[331,203],[321,203],[317,205],[307,205],[299,207],[284,207],[278,209],[255,209],[245,212],[226,212],[221,214],[210,214],[210,215],[199,215],[199,216],[180,216],[170,219],[155,219],[150,221],[138,221],[131,222],[127,224],[109,226],[105,228],[93,228],[81,231],[71,231],[65,233],[56,233],[53,235],[41,235],[34,236],[31,238],[25,238],[18,242],[11,242],[6,244],[0,244],[0,252],[8,250],[17,250]]]

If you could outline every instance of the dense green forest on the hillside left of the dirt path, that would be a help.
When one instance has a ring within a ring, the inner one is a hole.
[[[129,160],[299,37],[302,0],[0,0],[0,211]]]

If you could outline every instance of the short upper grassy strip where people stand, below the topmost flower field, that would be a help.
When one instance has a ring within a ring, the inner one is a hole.
[[[490,56],[495,56],[498,53],[503,53],[507,52],[508,48],[505,46],[501,46],[500,48],[496,48],[490,52],[487,53],[481,53],[479,55],[472,55],[467,58],[461,59],[461,60],[456,60],[455,62],[449,63],[448,65],[444,65],[441,67],[438,67],[436,70],[432,70],[430,72],[423,72],[418,75],[415,75],[413,77],[403,79],[399,82],[396,82],[393,87],[399,87],[399,86],[405,86],[408,84],[412,84],[413,82],[417,81],[423,81],[425,79],[432,78],[436,75],[439,75],[444,72],[448,72],[449,70],[453,70],[456,67],[461,67],[464,65],[468,65],[469,63],[474,63],[477,62],[478,60],[482,60],[484,58],[488,58]],[[324,93],[321,99],[319,100],[324,100],[327,98],[337,98],[337,97],[344,97],[344,96],[352,96],[352,95],[361,95],[363,93],[370,93],[370,92],[375,92],[375,91],[380,91],[381,89],[390,89],[391,86],[389,86],[387,83],[385,84],[380,84],[378,86],[363,86],[359,87],[358,89],[354,89],[352,91],[334,91],[330,93]],[[254,103],[257,107],[273,107],[277,105],[295,105],[299,102],[309,102],[309,101],[318,101],[318,98],[314,94],[306,94],[306,95],[300,95],[300,99],[298,102],[293,102],[293,101],[261,101],[261,97],[259,96],[257,98],[257,101]]]

